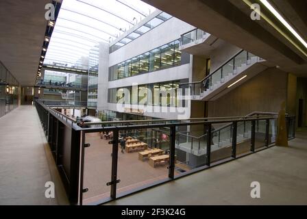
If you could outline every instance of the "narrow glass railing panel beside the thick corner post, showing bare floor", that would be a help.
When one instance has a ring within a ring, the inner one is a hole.
[[[112,170],[112,144],[109,144],[112,132],[86,133],[85,143],[90,147],[84,149],[83,186],[88,192],[83,193],[83,203],[93,203],[110,197]]]

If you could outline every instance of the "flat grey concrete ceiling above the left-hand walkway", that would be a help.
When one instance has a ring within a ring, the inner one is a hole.
[[[0,60],[21,86],[34,86],[50,0],[0,1]]]

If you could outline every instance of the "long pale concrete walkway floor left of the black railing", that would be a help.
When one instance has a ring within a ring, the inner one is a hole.
[[[35,107],[0,118],[0,151],[0,205],[68,204]],[[47,181],[56,198],[45,198]]]

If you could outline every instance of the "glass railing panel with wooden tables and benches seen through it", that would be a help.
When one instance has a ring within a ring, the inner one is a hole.
[[[121,132],[117,196],[169,178],[169,129],[134,129]]]

